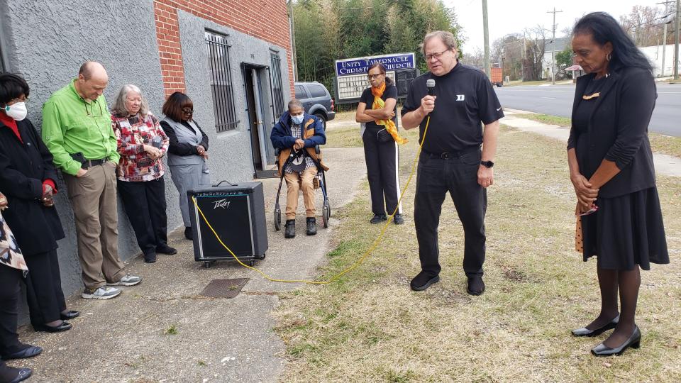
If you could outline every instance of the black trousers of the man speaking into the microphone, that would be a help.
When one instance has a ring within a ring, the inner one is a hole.
[[[465,238],[463,270],[467,277],[482,276],[485,262],[487,191],[477,183],[480,150],[443,159],[421,152],[414,198],[414,224],[419,240],[421,269],[439,274],[438,226],[445,194],[449,191]]]

